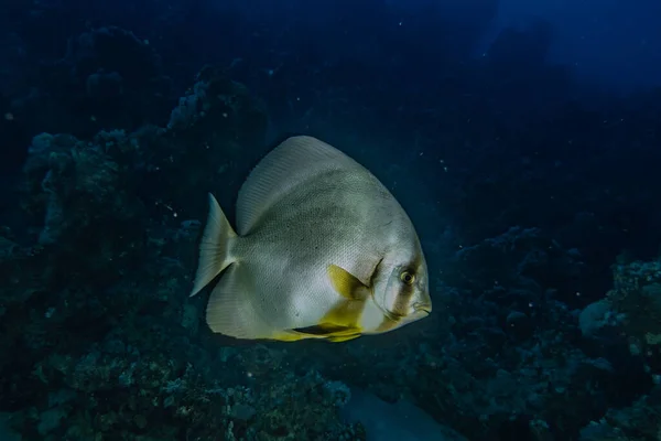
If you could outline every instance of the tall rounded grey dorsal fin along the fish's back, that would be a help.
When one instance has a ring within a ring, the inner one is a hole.
[[[359,168],[356,161],[316,138],[297,136],[275,147],[252,170],[237,202],[237,230],[249,234],[278,200],[319,173]]]

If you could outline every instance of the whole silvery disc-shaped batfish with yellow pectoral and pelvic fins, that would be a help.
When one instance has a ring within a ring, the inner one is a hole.
[[[411,219],[333,146],[294,136],[271,150],[239,190],[236,230],[212,193],[208,201],[191,297],[213,286],[214,333],[345,342],[431,314]]]

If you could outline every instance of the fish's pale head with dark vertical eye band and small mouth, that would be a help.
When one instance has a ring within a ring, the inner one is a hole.
[[[399,326],[432,312],[426,261],[419,244],[387,252],[373,284],[373,300],[383,314]]]

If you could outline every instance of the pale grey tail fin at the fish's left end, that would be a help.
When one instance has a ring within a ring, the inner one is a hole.
[[[234,262],[235,258],[230,254],[230,247],[232,239],[237,237],[218,201],[209,193],[209,216],[199,244],[199,261],[191,297],[202,291]]]

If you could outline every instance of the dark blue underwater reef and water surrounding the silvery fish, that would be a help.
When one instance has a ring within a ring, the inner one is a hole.
[[[661,3],[0,6],[0,441],[661,439]],[[430,318],[208,330],[207,192],[293,133],[407,209]]]

